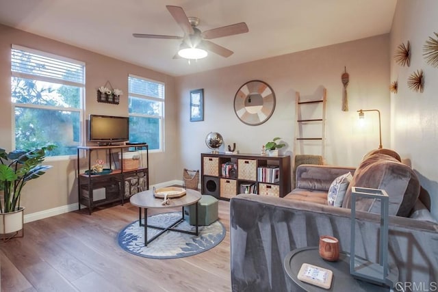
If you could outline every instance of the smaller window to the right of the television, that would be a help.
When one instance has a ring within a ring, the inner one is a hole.
[[[129,75],[129,142],[163,149],[164,83]]]

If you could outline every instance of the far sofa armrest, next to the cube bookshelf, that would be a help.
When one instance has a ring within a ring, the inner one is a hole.
[[[301,164],[296,168],[296,188],[329,191],[335,178],[347,172],[354,175],[355,170],[342,166]]]

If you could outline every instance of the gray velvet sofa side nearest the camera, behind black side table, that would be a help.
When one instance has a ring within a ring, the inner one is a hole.
[[[357,212],[356,250],[377,261],[380,216]],[[230,201],[231,286],[233,291],[300,291],[284,271],[291,250],[318,246],[320,235],[339,239],[350,252],[350,209],[269,196],[239,195]],[[438,224],[389,218],[389,260],[400,282],[436,281]]]

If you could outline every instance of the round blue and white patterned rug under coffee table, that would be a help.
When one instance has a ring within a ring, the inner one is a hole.
[[[181,218],[181,212],[161,213],[149,216],[148,224],[165,227],[178,218]],[[195,231],[195,227],[185,220],[175,227]],[[159,231],[161,230],[148,228],[148,238],[151,239]],[[144,227],[139,226],[137,220],[120,230],[118,244],[127,252],[145,258],[183,258],[214,248],[224,239],[225,233],[224,226],[217,220],[209,226],[199,226],[198,236],[167,230],[148,246],[144,246]]]

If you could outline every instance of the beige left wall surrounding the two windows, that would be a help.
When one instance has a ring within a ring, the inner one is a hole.
[[[182,170],[169,167],[169,165],[175,165],[175,161],[179,159],[179,131],[176,119],[178,109],[175,102],[175,79],[173,77],[3,25],[0,25],[0,36],[0,147],[10,150],[14,137],[10,101],[10,49],[11,44],[18,44],[86,63],[85,117],[89,114],[127,116],[129,74],[166,83],[166,121],[164,123],[166,149],[164,152],[149,154],[151,184],[172,181],[182,176]],[[120,98],[119,105],[97,103],[96,88],[105,85],[107,81],[110,81],[114,88],[125,92]],[[38,180],[29,182],[23,192],[22,204],[26,207],[25,214],[64,207],[77,202],[75,161],[75,159],[64,161],[47,159],[46,163],[53,165],[53,168]]]

